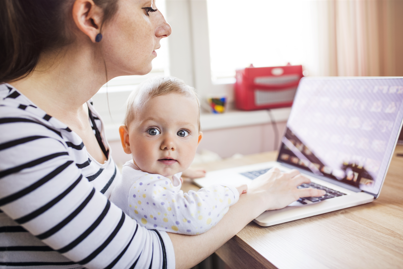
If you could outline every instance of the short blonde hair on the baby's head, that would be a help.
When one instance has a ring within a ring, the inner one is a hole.
[[[141,109],[150,99],[170,93],[182,94],[196,100],[199,111],[198,126],[200,130],[199,98],[197,97],[194,88],[186,85],[185,82],[174,77],[154,78],[141,83],[127,99],[124,125],[129,127],[130,123],[136,117],[136,112]]]

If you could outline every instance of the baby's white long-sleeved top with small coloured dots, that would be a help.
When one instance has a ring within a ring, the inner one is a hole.
[[[180,234],[208,231],[239,200],[235,187],[212,186],[184,193],[159,175],[146,175],[130,188],[130,216],[148,229]]]

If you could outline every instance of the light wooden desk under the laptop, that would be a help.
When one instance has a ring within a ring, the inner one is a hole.
[[[251,222],[216,254],[232,269],[403,268],[403,157],[396,153],[403,153],[403,146],[396,148],[374,202],[267,228]],[[270,152],[199,167],[213,171],[276,156]]]

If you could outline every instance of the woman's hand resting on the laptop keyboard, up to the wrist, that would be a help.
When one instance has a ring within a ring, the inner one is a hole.
[[[260,194],[263,210],[274,210],[286,207],[301,197],[318,197],[325,195],[325,191],[304,188],[297,189],[303,183],[311,180],[297,170],[282,173],[278,168],[253,180],[249,185],[250,194]]]

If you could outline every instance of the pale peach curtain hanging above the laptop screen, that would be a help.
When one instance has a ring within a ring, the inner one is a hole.
[[[403,75],[402,0],[318,0],[317,4],[323,75]]]

